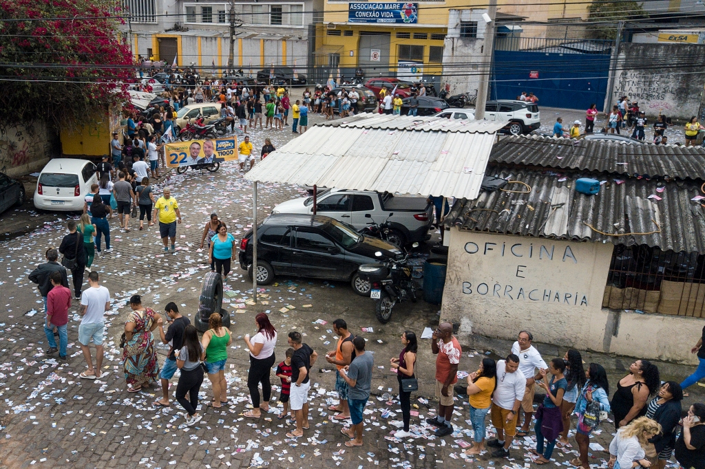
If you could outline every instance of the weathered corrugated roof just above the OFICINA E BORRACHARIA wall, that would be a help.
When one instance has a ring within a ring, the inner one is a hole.
[[[691,201],[694,196],[703,195],[699,182],[628,177],[618,183],[622,179],[599,173],[572,171],[562,175],[503,165],[489,165],[486,174],[525,182],[531,192],[498,190],[483,192],[475,200],[455,201],[446,225],[531,237],[646,244],[705,254],[705,208]],[[606,182],[599,194],[585,195],[575,192],[579,177]],[[518,184],[504,189],[527,190]],[[661,200],[649,199],[652,195]]]

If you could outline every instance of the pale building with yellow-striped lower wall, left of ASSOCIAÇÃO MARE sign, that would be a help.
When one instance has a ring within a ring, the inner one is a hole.
[[[286,65],[306,73],[312,25],[321,0],[195,1],[127,0],[132,14],[124,32],[135,58],[202,68],[219,75],[231,53],[231,8],[235,18],[233,68],[257,73]]]

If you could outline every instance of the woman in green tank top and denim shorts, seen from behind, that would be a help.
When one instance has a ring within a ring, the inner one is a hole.
[[[225,362],[228,359],[228,345],[233,343],[230,331],[223,327],[220,313],[213,313],[208,318],[209,329],[203,333],[201,344],[204,354],[202,360],[208,369],[208,379],[213,387],[213,408],[228,404],[228,382],[225,380]]]

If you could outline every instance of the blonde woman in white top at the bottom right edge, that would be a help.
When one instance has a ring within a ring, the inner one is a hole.
[[[646,459],[644,446],[649,444],[649,438],[660,433],[661,425],[648,417],[639,417],[629,425],[621,427],[610,443],[608,468],[632,469],[651,466],[651,462]]]

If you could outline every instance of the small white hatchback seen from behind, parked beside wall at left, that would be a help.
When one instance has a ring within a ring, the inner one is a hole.
[[[54,158],[39,174],[35,207],[41,210],[83,210],[83,198],[98,184],[96,167],[88,160]]]

